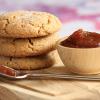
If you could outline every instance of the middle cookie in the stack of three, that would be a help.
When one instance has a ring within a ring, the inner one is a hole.
[[[46,54],[55,49],[58,34],[29,39],[0,38],[0,56],[26,57]]]

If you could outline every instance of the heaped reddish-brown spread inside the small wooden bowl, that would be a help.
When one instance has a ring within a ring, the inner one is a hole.
[[[61,45],[72,48],[100,47],[100,34],[79,29],[62,41]]]

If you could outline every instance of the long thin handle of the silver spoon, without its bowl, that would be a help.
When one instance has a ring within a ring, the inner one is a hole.
[[[97,76],[81,76],[81,75],[70,75],[70,74],[49,74],[49,73],[38,73],[38,74],[27,74],[26,78],[42,78],[42,79],[69,79],[69,80],[86,80],[86,81],[100,81],[100,77]]]

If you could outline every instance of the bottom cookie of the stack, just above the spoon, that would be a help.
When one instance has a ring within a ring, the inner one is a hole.
[[[0,56],[0,65],[14,69],[41,69],[55,64],[54,52],[46,55],[25,58]]]

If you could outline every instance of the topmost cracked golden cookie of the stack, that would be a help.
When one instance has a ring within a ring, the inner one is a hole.
[[[0,15],[0,37],[31,38],[57,32],[59,19],[46,12],[15,11]]]

